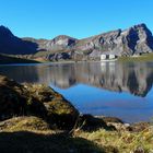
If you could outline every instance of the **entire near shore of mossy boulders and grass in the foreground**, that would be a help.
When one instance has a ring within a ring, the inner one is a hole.
[[[150,153],[151,122],[80,113],[45,85],[19,84],[0,75],[1,153]]]

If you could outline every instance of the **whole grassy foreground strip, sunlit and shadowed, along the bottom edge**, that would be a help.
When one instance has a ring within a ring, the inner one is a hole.
[[[37,117],[15,117],[0,123],[0,152],[152,153],[153,127],[95,131],[50,130]],[[9,145],[9,149],[8,149]]]

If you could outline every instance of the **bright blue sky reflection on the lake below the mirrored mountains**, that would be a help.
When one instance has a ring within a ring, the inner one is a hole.
[[[58,89],[81,111],[92,115],[116,116],[127,122],[149,120],[153,117],[153,90],[146,97],[129,93],[116,93],[79,84],[70,89]]]

